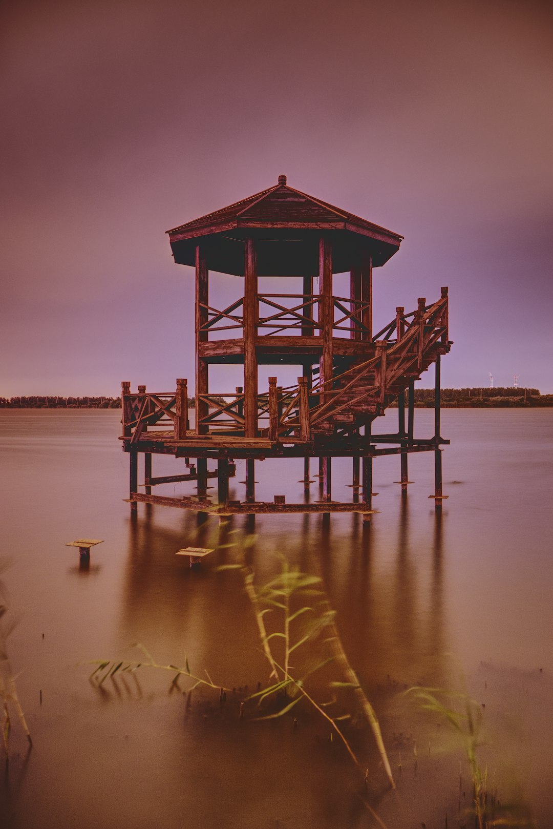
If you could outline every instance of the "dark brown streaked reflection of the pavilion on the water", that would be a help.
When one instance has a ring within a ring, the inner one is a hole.
[[[361,519],[321,525],[306,515],[290,517],[286,528],[273,520],[270,531],[255,536],[244,550],[244,519],[197,526],[196,516],[184,513],[185,525],[179,521],[172,530],[167,516],[163,526],[156,524],[158,508],[148,507],[130,524],[123,641],[148,642],[168,661],[188,652],[196,665],[210,671],[217,666],[225,681],[237,686],[264,680],[266,667],[240,578],[215,568],[245,554],[262,584],[279,568],[271,555],[278,550],[300,570],[322,577],[362,681],[371,685],[390,675],[438,684],[447,670],[441,512],[420,519],[434,524],[432,544],[422,547],[413,541],[420,526],[411,526],[409,501],[402,498],[398,509],[392,545],[378,526],[363,525]],[[183,539],[216,550],[198,573],[175,555]]]

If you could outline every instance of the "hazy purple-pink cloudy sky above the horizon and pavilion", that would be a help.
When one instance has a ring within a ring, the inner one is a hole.
[[[376,326],[449,286],[442,385],[553,392],[552,10],[8,4],[0,395],[193,386],[193,271],[164,231],[279,174],[405,236],[374,272]]]

